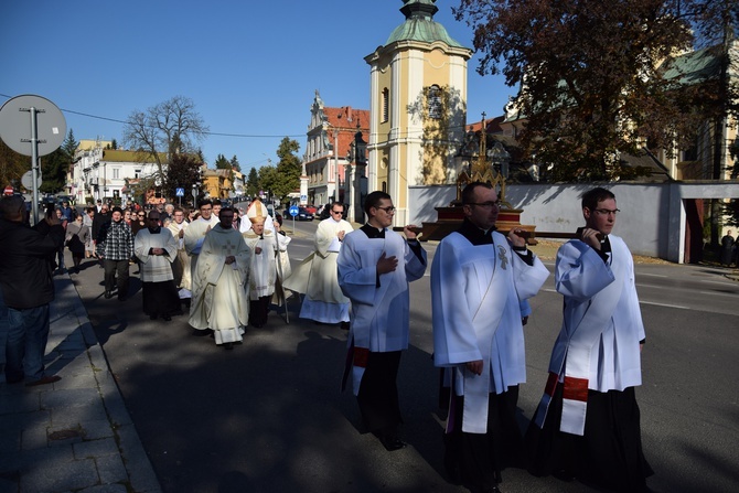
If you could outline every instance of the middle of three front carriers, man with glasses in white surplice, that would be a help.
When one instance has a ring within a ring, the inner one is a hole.
[[[520,229],[495,229],[500,202],[490,184],[468,184],[462,208],[461,227],[431,265],[433,361],[450,387],[445,467],[474,492],[497,492],[501,470],[524,460],[515,417],[526,382],[522,303],[549,271]]]

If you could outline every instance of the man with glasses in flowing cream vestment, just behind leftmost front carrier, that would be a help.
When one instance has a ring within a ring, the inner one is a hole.
[[[315,251],[294,269],[285,281],[285,288],[306,293],[301,319],[340,324],[349,330],[349,298],[339,287],[336,258],[344,236],[354,228],[342,219],[344,204],[341,202],[332,203],[329,212],[331,217],[321,221],[315,229]]]

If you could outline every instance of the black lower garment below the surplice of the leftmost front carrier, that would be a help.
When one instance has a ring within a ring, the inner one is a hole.
[[[370,353],[356,401],[362,420],[375,435],[396,435],[403,422],[397,376],[401,351]]]

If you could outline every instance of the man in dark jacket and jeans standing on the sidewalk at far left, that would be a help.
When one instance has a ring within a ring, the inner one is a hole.
[[[22,196],[0,200],[0,288],[8,307],[6,382],[25,385],[58,382],[44,374],[49,340],[49,303],[54,299],[52,264],[64,243],[64,229],[55,214],[33,228],[26,226]]]

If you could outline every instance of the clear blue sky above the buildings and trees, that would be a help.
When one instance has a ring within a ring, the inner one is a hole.
[[[438,0],[435,20],[472,47],[454,21],[458,0]],[[400,0],[3,0],[0,105],[35,94],[52,100],[77,140],[121,141],[124,121],[175,95],[191,98],[214,133],[203,143],[259,168],[285,136],[300,157],[315,89],[326,106],[370,108],[364,56],[403,23]],[[515,90],[469,62],[468,122],[493,117]],[[71,112],[75,111],[75,112]],[[83,116],[78,114],[89,115]],[[117,121],[110,121],[117,120]],[[256,137],[269,136],[269,137]]]

